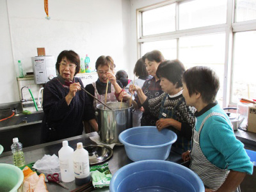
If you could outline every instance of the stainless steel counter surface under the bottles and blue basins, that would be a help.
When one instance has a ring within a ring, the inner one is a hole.
[[[83,145],[90,145],[90,144],[96,144],[94,141],[90,140],[91,136],[97,135],[97,132],[91,132],[89,134],[83,134],[81,136],[76,136],[73,138],[68,138],[68,145],[72,148],[76,148],[76,143],[82,142]],[[33,147],[26,147],[24,148],[24,156],[26,163],[32,163],[37,161],[38,159],[42,159],[42,157],[45,154],[53,155],[56,154],[58,156],[58,150],[62,147],[62,141],[53,141],[51,143],[44,143],[40,145],[35,145]],[[170,152],[170,156],[167,161],[172,161],[175,163],[182,163],[181,156],[175,152]],[[0,163],[9,163],[13,164],[12,160],[12,152],[4,152],[0,156]],[[115,146],[113,148],[113,157],[109,159],[109,169],[112,173],[112,175],[115,174],[115,172],[122,168],[122,166],[125,166],[125,164],[132,163],[132,161],[127,157],[125,153],[124,146]],[[68,182],[65,183],[66,186],[68,186],[69,190],[62,188],[61,186],[58,186],[58,184],[55,183],[47,183],[47,189],[51,191],[70,191],[72,189],[76,189],[79,186],[76,186],[75,182]],[[108,188],[104,189],[97,189],[95,191],[109,191]]]

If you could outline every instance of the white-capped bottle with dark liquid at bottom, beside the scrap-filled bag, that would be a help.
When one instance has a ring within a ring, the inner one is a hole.
[[[90,166],[88,151],[83,148],[83,143],[77,143],[73,154],[75,180],[78,186],[90,181]]]

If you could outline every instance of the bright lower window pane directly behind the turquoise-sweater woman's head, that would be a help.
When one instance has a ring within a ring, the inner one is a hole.
[[[223,76],[225,61],[225,34],[201,35],[180,38],[179,59],[186,68],[204,65],[211,67],[220,77],[217,100],[223,100]]]

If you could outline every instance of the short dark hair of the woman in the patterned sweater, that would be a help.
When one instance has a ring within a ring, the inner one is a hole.
[[[182,87],[182,76],[184,72],[185,67],[179,60],[166,60],[158,66],[156,76],[158,78],[164,77],[173,84],[176,84],[176,88],[180,88]]]

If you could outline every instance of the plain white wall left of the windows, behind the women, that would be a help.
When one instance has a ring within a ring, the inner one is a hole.
[[[49,1],[47,20],[42,0],[0,0],[0,104],[19,101],[15,65],[21,60],[32,72],[37,47],[55,58],[65,49],[88,54],[93,65],[100,55],[110,55],[118,68],[127,68],[129,6],[127,0]]]

